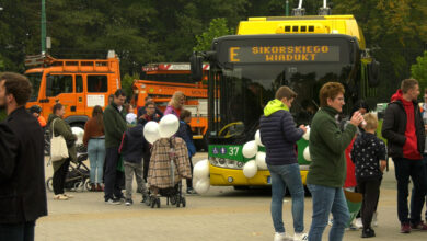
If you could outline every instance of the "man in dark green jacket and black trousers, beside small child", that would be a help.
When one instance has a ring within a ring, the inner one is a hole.
[[[123,181],[123,172],[117,170],[119,153],[118,148],[122,142],[123,134],[125,133],[126,112],[123,104],[126,101],[126,94],[123,90],[117,90],[114,93],[113,102],[104,111],[104,128],[105,128],[105,173],[104,173],[104,198],[108,204],[120,204],[125,199],[120,190]]]

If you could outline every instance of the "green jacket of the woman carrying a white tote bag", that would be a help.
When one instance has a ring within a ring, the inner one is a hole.
[[[50,129],[50,135],[55,133],[56,137],[61,135],[64,139],[66,139],[70,161],[76,162],[77,161],[77,148],[76,148],[77,137],[76,135],[72,134],[70,125],[68,125],[68,123],[66,123],[64,119],[59,118],[59,116],[50,114],[49,118],[47,119],[47,126]],[[54,127],[54,131],[53,131],[53,127]],[[54,161],[53,162],[54,171],[57,171],[65,161],[66,159]]]

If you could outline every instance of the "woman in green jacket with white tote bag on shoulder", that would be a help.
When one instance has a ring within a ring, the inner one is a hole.
[[[71,133],[71,127],[67,122],[64,120],[64,115],[66,114],[66,107],[62,104],[55,104],[53,114],[49,115],[47,126],[50,128],[50,134],[57,136],[62,136],[67,142],[68,158],[57,160],[53,162],[54,167],[54,193],[56,200],[67,200],[72,197],[72,195],[65,194],[64,187],[66,184],[66,177],[68,173],[68,167],[70,161],[77,160],[77,149],[76,140],[77,136]]]

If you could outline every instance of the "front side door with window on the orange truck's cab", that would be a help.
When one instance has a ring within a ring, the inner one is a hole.
[[[46,76],[46,99],[43,101],[43,110],[51,113],[56,103],[66,107],[66,116],[76,113],[76,94],[73,93],[72,74],[47,74]]]

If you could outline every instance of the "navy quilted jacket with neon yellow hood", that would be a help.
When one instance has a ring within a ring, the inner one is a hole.
[[[279,100],[273,100],[264,108],[259,119],[261,140],[269,165],[298,163],[296,142],[304,131],[296,127],[292,115]]]

